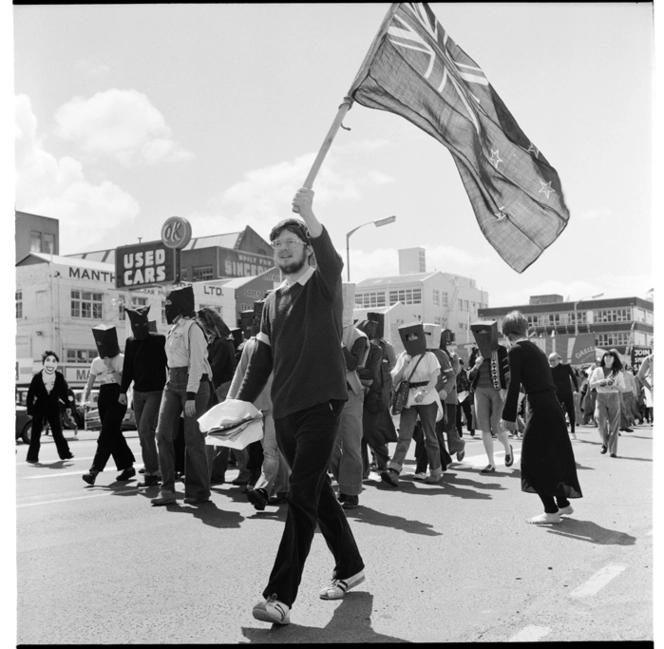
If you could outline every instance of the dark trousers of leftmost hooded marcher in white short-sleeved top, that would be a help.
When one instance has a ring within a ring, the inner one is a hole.
[[[119,395],[120,386],[117,383],[104,384],[99,389],[97,407],[101,432],[97,439],[97,452],[92,460],[91,471],[103,471],[111,456],[118,471],[128,469],[134,464],[134,454],[122,434],[122,420],[127,406],[118,401]]]

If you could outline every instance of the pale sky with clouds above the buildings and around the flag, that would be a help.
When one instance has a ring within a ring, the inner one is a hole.
[[[267,238],[388,9],[373,4],[14,6],[18,210],[60,219],[61,253],[250,225]],[[560,176],[570,220],[526,271],[482,235],[448,150],[353,105],[313,189],[351,280],[427,270],[489,306],[645,297],[653,279],[650,3],[432,3]],[[370,222],[396,215],[382,228]],[[345,278],[345,272],[344,272]]]

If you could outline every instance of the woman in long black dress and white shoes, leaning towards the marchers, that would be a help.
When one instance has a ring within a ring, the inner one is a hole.
[[[528,523],[560,523],[561,516],[574,511],[568,499],[582,497],[565,414],[546,354],[527,338],[526,318],[512,311],[505,316],[502,329],[511,344],[510,383],[502,418],[506,428],[516,428],[519,386],[523,384],[530,416],[521,447],[521,490],[536,493],[544,505],[544,513]]]

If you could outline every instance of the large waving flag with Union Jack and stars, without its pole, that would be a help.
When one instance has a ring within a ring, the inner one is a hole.
[[[405,117],[449,149],[480,229],[517,272],[565,229],[556,170],[426,3],[396,6],[349,96]]]

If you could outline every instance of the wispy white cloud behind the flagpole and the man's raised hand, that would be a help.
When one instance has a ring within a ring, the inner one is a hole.
[[[367,140],[335,147],[316,177],[316,205],[356,201],[366,188],[393,182],[390,176],[370,169],[369,165],[352,164],[362,152],[386,145],[385,141]],[[303,185],[315,157],[314,153],[307,153],[291,161],[249,171],[210,200],[205,209],[190,213],[187,218],[195,221],[197,228],[210,233],[239,230],[249,223],[258,232],[267,234],[277,221],[292,215],[291,201]],[[365,169],[358,171],[362,167]]]

